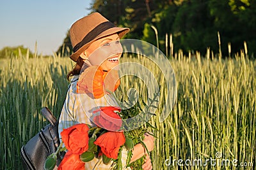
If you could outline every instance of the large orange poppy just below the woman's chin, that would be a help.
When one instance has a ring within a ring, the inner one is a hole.
[[[118,71],[103,71],[100,66],[90,66],[79,76],[77,93],[86,93],[95,99],[99,99],[108,93],[115,92],[120,85]]]

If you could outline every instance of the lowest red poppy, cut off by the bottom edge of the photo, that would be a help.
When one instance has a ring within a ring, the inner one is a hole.
[[[79,154],[68,151],[61,161],[60,166],[58,166],[58,170],[83,170],[85,169],[84,164],[85,163],[80,160]]]

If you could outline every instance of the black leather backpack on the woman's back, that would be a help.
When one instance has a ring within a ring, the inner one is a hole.
[[[49,155],[56,152],[60,145],[58,134],[58,121],[48,108],[42,108],[42,114],[51,123],[41,129],[22,146],[20,155],[24,169],[44,169],[44,162]],[[63,153],[57,156],[57,165],[60,164]]]

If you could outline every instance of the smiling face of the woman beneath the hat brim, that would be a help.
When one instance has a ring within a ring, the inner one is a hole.
[[[122,46],[119,40],[118,34],[111,34],[97,39],[81,54],[81,57],[84,62],[87,59],[90,64],[100,65],[103,70],[109,71],[118,65],[122,55]]]

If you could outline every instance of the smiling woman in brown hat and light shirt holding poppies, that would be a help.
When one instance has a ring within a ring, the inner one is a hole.
[[[67,76],[68,80],[71,76],[72,79],[60,115],[60,138],[61,131],[71,127],[72,125],[79,123],[93,125],[90,120],[92,108],[96,108],[97,106],[116,106],[115,101],[109,94],[105,94],[103,97],[97,97],[96,99],[88,94],[78,93],[77,82],[84,63],[88,68],[99,65],[103,71],[107,72],[117,66],[118,60],[122,55],[122,50],[120,50],[122,48],[120,48],[119,39],[127,34],[127,32],[129,32],[129,28],[115,27],[113,23],[102,17],[100,13],[92,13],[91,15],[83,17],[80,20],[77,20],[70,28],[70,40],[74,50],[74,53],[70,55],[70,59],[74,60],[76,65]],[[110,46],[108,49],[111,49],[115,54],[107,58],[104,57],[104,55],[92,55],[93,52],[95,52],[95,50],[99,49],[101,46]],[[153,150],[154,138],[152,136],[145,134],[145,139],[143,142],[147,146],[148,151]],[[141,144],[134,146],[131,162],[140,159],[140,157],[143,155],[146,155],[143,169],[152,169],[151,160],[145,152],[145,148]],[[125,167],[126,157],[127,150],[123,149],[123,167]],[[85,169],[104,170],[110,169],[111,166],[113,166],[111,163],[108,165],[103,164],[101,158],[94,158],[92,161],[86,162]]]

